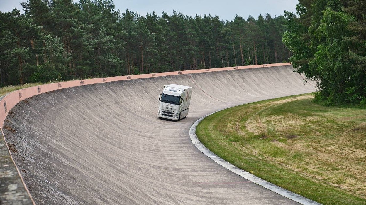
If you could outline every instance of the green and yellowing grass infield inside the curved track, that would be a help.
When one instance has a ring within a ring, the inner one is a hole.
[[[309,94],[226,109],[199,140],[235,166],[321,204],[366,204],[366,109],[324,107]]]

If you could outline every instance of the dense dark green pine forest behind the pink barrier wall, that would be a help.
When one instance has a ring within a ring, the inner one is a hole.
[[[112,0],[29,0],[0,12],[0,86],[287,62],[284,16],[141,16]]]

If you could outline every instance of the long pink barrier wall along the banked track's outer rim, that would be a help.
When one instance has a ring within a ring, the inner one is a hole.
[[[183,71],[174,71],[174,72],[165,72],[165,73],[150,73],[150,74],[140,74],[140,75],[131,75],[131,76],[117,76],[117,77],[106,77],[106,78],[93,78],[86,80],[74,80],[74,81],[66,81],[60,83],[51,83],[45,85],[38,85],[29,88],[23,88],[11,92],[6,95],[0,101],[0,128],[3,130],[4,120],[9,112],[18,102],[21,100],[30,98],[34,95],[42,94],[49,91],[54,91],[62,88],[70,88],[81,85],[90,85],[95,83],[107,83],[112,81],[120,81],[120,80],[132,80],[139,78],[151,78],[151,77],[160,77],[160,76],[173,76],[173,75],[182,75],[182,74],[190,74],[190,73],[205,73],[205,72],[216,72],[223,70],[240,70],[240,69],[250,69],[250,68],[258,68],[258,67],[273,67],[273,66],[288,66],[291,63],[274,63],[274,64],[264,64],[264,65],[252,65],[252,66],[237,66],[237,67],[221,67],[221,68],[210,68],[210,69],[201,69],[201,70],[183,70]]]

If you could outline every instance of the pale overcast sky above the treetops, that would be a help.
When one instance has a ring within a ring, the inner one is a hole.
[[[21,2],[26,0],[0,0],[0,11],[7,12],[14,8],[22,11]],[[75,2],[75,0],[74,0]],[[196,14],[203,17],[204,14],[218,15],[223,20],[232,20],[238,14],[244,18],[252,15],[258,18],[259,14],[265,16],[269,13],[272,17],[279,16],[284,10],[295,12],[298,0],[114,0],[116,10],[121,13],[128,10],[137,12],[142,16],[155,11],[161,16],[164,12],[173,14],[173,10],[184,15],[194,17]]]

